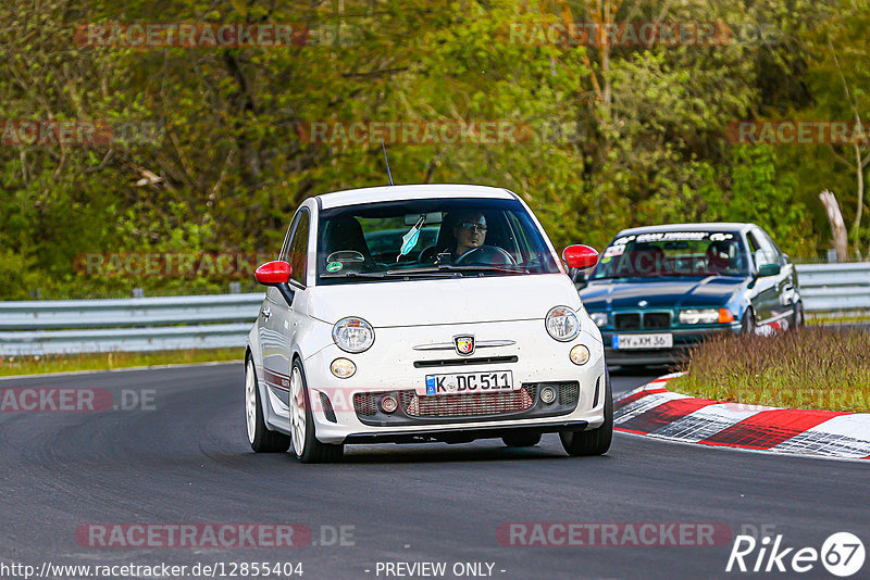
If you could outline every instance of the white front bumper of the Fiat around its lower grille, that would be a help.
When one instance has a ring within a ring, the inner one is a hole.
[[[455,351],[414,350],[414,346],[450,342],[452,337],[464,333],[474,335],[478,343],[513,344],[482,348],[468,357],[460,357]],[[500,437],[501,431],[518,428],[595,429],[604,423],[604,348],[597,328],[591,323],[584,324],[580,336],[570,342],[552,340],[543,328],[543,320],[378,328],[375,336],[375,343],[364,353],[348,354],[331,344],[304,360],[320,441],[462,440]],[[579,366],[571,362],[569,352],[581,343],[589,349],[591,357]],[[352,377],[338,379],[332,375],[330,365],[339,357],[356,364]],[[512,373],[517,389],[512,393],[425,395],[426,375],[507,370]],[[560,384],[556,403],[547,405],[539,400],[542,383]],[[566,393],[571,392],[570,396],[566,394],[562,399],[561,386]],[[572,389],[576,392],[575,404],[571,404]],[[396,413],[384,414],[377,408],[380,394],[365,394],[387,392],[400,401]],[[361,403],[366,402],[369,412],[360,413]],[[488,413],[481,414],[484,412]]]

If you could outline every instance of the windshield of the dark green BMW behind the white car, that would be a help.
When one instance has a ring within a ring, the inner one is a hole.
[[[748,259],[736,231],[656,231],[618,237],[589,278],[747,274]]]

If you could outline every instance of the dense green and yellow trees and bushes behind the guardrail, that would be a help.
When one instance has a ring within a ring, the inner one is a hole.
[[[837,161],[847,151],[734,146],[725,130],[746,118],[849,118],[840,70],[870,117],[867,0],[671,4],[616,2],[616,20],[775,34],[720,46],[511,41],[511,26],[595,20],[585,0],[4,3],[5,119],[159,130],[90,147],[0,146],[0,299],[36,288],[44,298],[224,290],[223,278],[84,276],[74,264],[85,252],[275,252],[306,197],[385,181],[378,143],[301,139],[300,124],[319,121],[531,127],[523,142],[390,144],[393,174],[512,189],[557,245],[728,219],[769,228],[795,257],[820,253],[819,191],[841,196],[847,223],[856,216],[855,174]],[[136,50],[80,46],[76,26],[90,22],[301,23],[328,34],[306,46]],[[867,224],[870,210],[854,244],[870,242]]]

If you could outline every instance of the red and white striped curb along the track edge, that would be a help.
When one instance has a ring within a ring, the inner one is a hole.
[[[695,399],[666,375],[613,402],[619,431],[794,455],[870,459],[870,413],[776,408]]]

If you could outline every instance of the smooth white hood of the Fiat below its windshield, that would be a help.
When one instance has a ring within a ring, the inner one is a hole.
[[[564,274],[319,286],[308,302],[325,323],[360,316],[375,328],[544,319],[554,306],[580,308]]]

